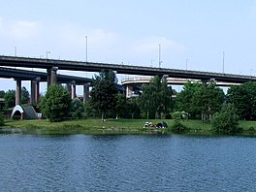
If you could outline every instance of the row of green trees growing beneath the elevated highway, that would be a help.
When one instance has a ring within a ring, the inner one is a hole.
[[[142,85],[140,97],[126,99],[116,88],[117,79],[112,71],[102,71],[93,78],[90,99],[82,103],[71,100],[68,89],[54,84],[42,97],[39,108],[50,121],[66,118],[174,118],[177,113],[185,119],[203,122],[256,119],[256,82],[231,86],[225,94],[214,81],[190,82],[176,93],[165,77],[155,76]],[[0,92],[3,94],[3,92]],[[22,87],[21,103],[28,103],[29,93]],[[0,95],[1,96],[1,95]],[[14,107],[15,91],[4,93],[6,108]],[[23,99],[22,99],[23,98]],[[176,113],[176,114],[174,114]],[[215,123],[217,124],[220,123]],[[230,125],[224,125],[222,127]],[[216,128],[221,130],[222,128]]]

